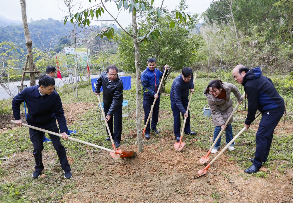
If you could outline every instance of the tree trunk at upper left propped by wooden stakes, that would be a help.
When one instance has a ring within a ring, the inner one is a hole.
[[[20,0],[20,5],[21,5],[21,17],[22,17],[22,23],[23,23],[23,30],[24,30],[24,36],[25,36],[25,45],[26,45],[26,49],[28,50],[29,70],[33,71],[34,70],[33,48],[32,48],[33,41],[30,39],[30,31],[28,30],[25,0]],[[35,84],[36,84],[35,74],[30,73],[30,86],[34,86]]]

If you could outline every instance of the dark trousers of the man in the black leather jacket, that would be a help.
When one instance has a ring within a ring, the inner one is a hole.
[[[107,116],[110,106],[104,104],[105,115]],[[113,117],[114,117],[114,132],[113,132]],[[108,121],[108,126],[111,132],[111,135],[114,137],[114,142],[120,143],[121,134],[122,134],[122,104],[117,107],[113,116],[111,116]],[[108,129],[106,127],[107,134],[109,135]],[[113,138],[112,137],[112,138]]]

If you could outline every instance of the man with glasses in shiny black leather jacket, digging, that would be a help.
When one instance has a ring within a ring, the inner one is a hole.
[[[107,71],[103,72],[97,79],[95,89],[95,95],[100,95],[100,88],[103,86],[104,111],[110,133],[114,136],[115,147],[119,147],[121,141],[123,102],[123,83],[117,72],[116,66],[108,66]],[[113,132],[113,116],[115,132]],[[107,128],[106,131],[109,135]],[[108,136],[105,140],[110,141],[110,137]]]

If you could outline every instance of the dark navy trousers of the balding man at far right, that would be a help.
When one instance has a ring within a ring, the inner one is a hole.
[[[274,130],[282,118],[285,110],[280,112],[263,112],[259,123],[258,131],[255,135],[256,149],[253,166],[260,168],[264,161],[268,160]]]

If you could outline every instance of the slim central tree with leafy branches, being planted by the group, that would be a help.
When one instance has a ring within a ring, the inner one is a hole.
[[[89,0],[91,2],[91,0]],[[140,54],[139,54],[139,43],[142,41],[149,41],[155,40],[161,35],[161,31],[155,29],[155,25],[157,24],[158,19],[160,19],[164,13],[167,13],[166,9],[163,9],[163,2],[160,7],[154,6],[154,0],[151,0],[151,7],[152,9],[148,11],[148,15],[156,15],[151,27],[142,33],[142,36],[138,34],[138,24],[137,24],[137,11],[146,11],[147,1],[142,0],[100,0],[96,6],[91,8],[85,9],[79,13],[73,13],[71,15],[64,17],[64,24],[69,20],[71,23],[78,23],[80,25],[90,25],[90,20],[96,16],[98,19],[102,16],[102,13],[105,11],[114,19],[114,21],[120,26],[120,28],[127,33],[130,37],[132,37],[133,45],[134,45],[134,58],[135,58],[135,77],[136,77],[136,128],[137,128],[137,143],[138,143],[138,151],[143,151],[143,140],[142,140],[142,117],[141,117],[141,106],[142,106],[142,86],[140,81]],[[132,33],[128,32],[125,28],[121,26],[121,24],[117,21],[117,19],[113,16],[112,13],[108,11],[106,8],[106,3],[115,3],[117,9],[120,11],[124,10],[125,12],[132,13]],[[192,14],[183,11],[176,11],[174,12],[176,15],[176,21],[170,19],[169,26],[171,28],[175,28],[179,23],[186,22],[187,19],[192,19]],[[105,31],[99,33],[100,37],[106,36],[109,40],[113,38],[114,35],[114,28],[108,27]]]

